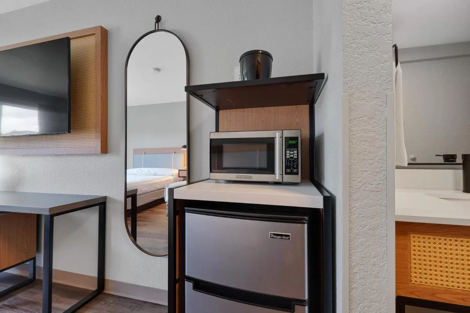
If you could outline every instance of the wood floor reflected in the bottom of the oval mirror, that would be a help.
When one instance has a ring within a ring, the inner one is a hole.
[[[131,227],[131,218],[127,219]],[[137,213],[137,244],[152,254],[168,253],[168,218],[166,203]]]

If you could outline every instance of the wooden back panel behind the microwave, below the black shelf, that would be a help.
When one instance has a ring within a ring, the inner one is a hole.
[[[309,179],[308,105],[219,111],[219,131],[300,129],[302,131],[302,179]]]

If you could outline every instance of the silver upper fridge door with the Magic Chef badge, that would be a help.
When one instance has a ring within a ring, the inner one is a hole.
[[[242,290],[308,299],[307,224],[187,210],[186,275]]]

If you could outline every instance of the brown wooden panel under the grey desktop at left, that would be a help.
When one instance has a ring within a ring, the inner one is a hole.
[[[0,215],[0,270],[36,256],[36,215]]]

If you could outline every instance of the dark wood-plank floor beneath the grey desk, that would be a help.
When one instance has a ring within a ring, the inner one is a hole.
[[[4,290],[17,282],[24,280],[24,276],[9,273],[0,273],[0,290]],[[42,281],[36,280],[32,284],[16,290],[5,297],[0,297],[1,313],[41,313]],[[52,312],[62,313],[78,300],[90,293],[90,290],[56,284],[52,286]],[[102,293],[91,302],[78,310],[79,313],[167,313],[167,307],[154,303],[118,297]]]

